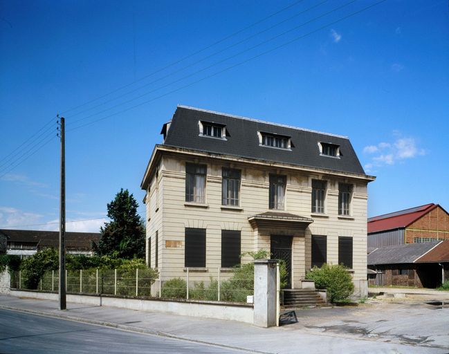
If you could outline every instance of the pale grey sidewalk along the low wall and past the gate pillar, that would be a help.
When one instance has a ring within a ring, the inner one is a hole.
[[[428,344],[405,345],[399,339],[397,342],[392,342],[391,339],[361,337],[360,333],[322,333],[317,328],[308,330],[305,326],[307,318],[317,318],[320,314],[327,314],[325,309],[298,312],[300,323],[267,329],[232,321],[71,303],[67,304],[68,310],[60,311],[57,310],[57,301],[24,299],[7,295],[0,295],[0,308],[174,337],[226,348],[237,348],[250,353],[417,354],[448,352],[448,348],[444,348],[441,343],[432,346]],[[345,309],[345,311],[349,310]]]

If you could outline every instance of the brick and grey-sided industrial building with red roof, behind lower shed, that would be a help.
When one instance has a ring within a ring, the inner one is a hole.
[[[449,240],[449,214],[438,204],[368,218],[368,248],[443,240]]]

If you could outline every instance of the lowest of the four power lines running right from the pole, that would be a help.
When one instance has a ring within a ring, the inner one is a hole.
[[[332,25],[334,25],[334,24],[338,24],[339,22],[344,21],[345,19],[348,19],[349,17],[353,17],[353,16],[355,16],[355,15],[358,15],[359,13],[364,12],[364,11],[366,11],[366,10],[369,10],[370,8],[373,8],[374,6],[377,6],[377,5],[379,5],[379,4],[381,4],[381,3],[385,2],[385,1],[386,1],[386,0],[377,1],[376,3],[374,3],[374,4],[370,5],[370,6],[366,6],[365,8],[362,8],[361,10],[357,10],[356,12],[352,12],[351,14],[346,15],[345,17],[341,17],[340,19],[338,19],[338,20],[336,20],[336,21],[332,21],[332,22],[330,22],[330,23],[328,23],[328,24],[326,24],[326,25],[324,25],[324,26],[321,26],[320,28],[317,28],[317,29],[315,29],[315,30],[312,30],[311,32],[306,33],[305,35],[302,35],[302,36],[300,36],[300,37],[295,37],[294,39],[292,39],[292,40],[290,40],[290,41],[287,41],[287,42],[285,42],[284,44],[280,44],[279,46],[275,46],[274,48],[271,48],[271,49],[266,50],[266,51],[264,51],[264,52],[262,52],[262,53],[259,53],[258,55],[255,55],[255,56],[253,56],[253,57],[250,57],[249,59],[246,59],[246,60],[244,60],[243,62],[239,62],[239,63],[234,64],[234,65],[232,65],[232,66],[228,66],[228,68],[224,68],[224,69],[221,70],[221,71],[217,71],[216,73],[213,73],[213,74],[208,75],[208,76],[206,76],[206,77],[203,77],[203,78],[201,78],[201,79],[199,79],[199,80],[196,80],[196,81],[194,81],[194,82],[191,82],[190,84],[186,84],[186,85],[184,85],[184,86],[181,86],[181,87],[179,87],[179,88],[176,88],[176,89],[174,89],[174,90],[172,90],[172,91],[169,91],[169,92],[167,92],[167,93],[164,93],[163,95],[156,96],[156,97],[152,98],[151,100],[147,100],[147,101],[145,101],[145,102],[141,102],[141,103],[136,104],[136,105],[134,105],[134,106],[131,106],[131,107],[127,108],[127,109],[123,109],[122,111],[118,111],[118,112],[113,113],[113,114],[111,114],[111,115],[107,115],[107,116],[105,116],[105,117],[103,117],[103,118],[99,118],[99,119],[97,119],[97,120],[93,120],[93,121],[91,121],[91,122],[87,122],[86,124],[82,124],[82,125],[80,125],[80,126],[78,126],[78,127],[74,127],[74,128],[72,128],[72,129],[69,129],[68,131],[73,131],[73,130],[75,130],[75,129],[80,129],[80,128],[82,128],[82,127],[86,127],[86,126],[88,126],[88,125],[94,124],[95,122],[100,122],[100,121],[105,120],[105,119],[107,119],[107,118],[111,118],[111,117],[113,117],[114,115],[118,115],[118,114],[120,114],[120,113],[124,113],[124,112],[126,112],[126,111],[129,111],[130,109],[134,109],[134,108],[136,108],[136,107],[138,107],[138,106],[142,106],[143,104],[147,104],[147,103],[149,103],[149,102],[153,102],[154,100],[158,100],[158,99],[160,99],[160,98],[162,98],[162,97],[165,97],[165,96],[167,96],[167,95],[169,95],[169,94],[171,94],[171,93],[174,93],[174,92],[177,92],[177,91],[181,91],[183,88],[187,88],[187,87],[192,86],[192,85],[194,85],[194,84],[197,84],[197,83],[199,83],[199,82],[203,82],[204,80],[208,80],[208,79],[210,79],[210,77],[217,76],[217,75],[219,75],[219,74],[221,74],[221,73],[224,73],[224,72],[226,72],[226,71],[229,71],[229,70],[232,69],[232,68],[235,68],[235,67],[237,67],[237,66],[241,66],[241,65],[243,65],[243,64],[246,64],[247,62],[250,62],[250,61],[253,60],[253,59],[257,59],[258,57],[262,57],[263,55],[266,55],[266,54],[268,54],[268,53],[271,53],[271,52],[273,52],[274,50],[283,48],[284,46],[288,46],[289,44],[292,44],[292,43],[295,42],[295,41],[298,41],[298,40],[300,40],[300,39],[303,39],[303,38],[305,38],[305,37],[308,37],[309,35],[313,35],[315,32],[318,32],[318,31],[320,31],[320,30],[323,30],[324,28],[328,28],[329,26],[332,26]],[[354,1],[351,1],[351,2],[354,2]],[[192,76],[192,75],[190,75],[190,76]],[[77,120],[77,121],[80,121],[80,120]],[[75,121],[75,122],[77,122],[77,121]]]

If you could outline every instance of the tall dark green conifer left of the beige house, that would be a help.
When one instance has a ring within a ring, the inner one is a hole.
[[[145,257],[145,227],[137,214],[138,204],[128,189],[120,189],[116,198],[107,205],[110,223],[100,227],[98,245],[92,243],[98,256],[113,258]]]

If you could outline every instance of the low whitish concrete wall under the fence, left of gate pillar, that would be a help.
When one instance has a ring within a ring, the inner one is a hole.
[[[33,299],[57,300],[58,295],[53,292],[36,292],[23,290],[10,290],[10,295],[16,297],[32,297]],[[175,300],[149,300],[125,299],[121,297],[105,297],[100,295],[67,295],[67,302],[89,304],[95,306],[113,306],[129,308],[131,310],[156,311],[173,313],[175,315],[205,317],[214,319],[228,319],[231,321],[254,323],[253,306],[222,304],[202,301],[175,301]]]

